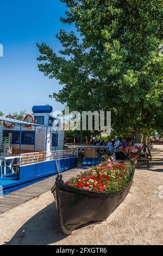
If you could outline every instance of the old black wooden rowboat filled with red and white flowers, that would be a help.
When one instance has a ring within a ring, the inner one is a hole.
[[[70,235],[84,224],[105,220],[127,196],[134,164],[124,153],[120,162],[115,159],[91,167],[66,182],[62,175],[57,176],[52,193],[64,234]]]

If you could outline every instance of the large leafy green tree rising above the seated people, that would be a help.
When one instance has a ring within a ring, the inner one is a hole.
[[[111,111],[112,127],[162,130],[162,0],[61,0],[61,21],[76,31],[60,30],[60,54],[46,44],[39,70],[57,78],[55,100],[70,110]]]

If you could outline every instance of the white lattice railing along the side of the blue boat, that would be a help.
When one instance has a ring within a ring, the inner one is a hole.
[[[20,156],[20,166],[27,166],[28,164],[34,164],[39,162],[69,159],[73,157],[78,157],[78,149],[68,149],[68,150],[56,150],[56,151],[42,151],[35,153],[21,154]]]

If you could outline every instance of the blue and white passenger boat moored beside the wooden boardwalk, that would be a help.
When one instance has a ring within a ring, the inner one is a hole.
[[[51,106],[34,106],[28,120],[0,117],[0,186],[7,194],[77,166],[78,150],[64,150],[61,120]],[[25,118],[26,119],[26,118]]]

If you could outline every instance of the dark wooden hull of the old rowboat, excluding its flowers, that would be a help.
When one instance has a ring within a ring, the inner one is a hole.
[[[113,161],[129,160],[122,151],[111,156]],[[58,175],[52,193],[55,198],[61,231],[70,235],[72,231],[84,224],[103,221],[114,211],[127,196],[134,176],[134,164],[131,161],[130,180],[124,190],[101,193],[86,191],[64,184],[62,175]]]

